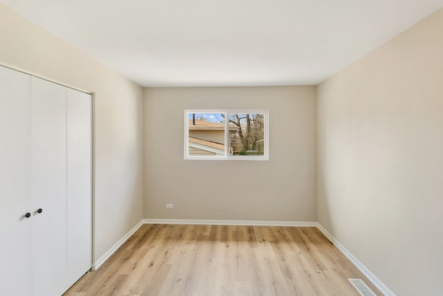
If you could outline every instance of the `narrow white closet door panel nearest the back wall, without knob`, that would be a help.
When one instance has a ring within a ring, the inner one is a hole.
[[[92,265],[92,99],[67,89],[68,286]]]

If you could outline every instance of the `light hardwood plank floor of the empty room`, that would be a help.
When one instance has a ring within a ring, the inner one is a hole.
[[[143,225],[65,295],[360,295],[316,227]]]

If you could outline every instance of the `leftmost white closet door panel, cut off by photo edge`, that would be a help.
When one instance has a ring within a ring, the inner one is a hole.
[[[0,67],[0,294],[31,295],[30,76]]]

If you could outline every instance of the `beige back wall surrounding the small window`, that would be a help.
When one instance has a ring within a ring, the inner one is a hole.
[[[315,87],[150,88],[144,106],[145,218],[316,221]],[[183,160],[184,110],[244,108],[269,109],[269,161]]]

